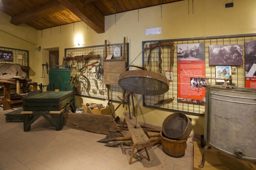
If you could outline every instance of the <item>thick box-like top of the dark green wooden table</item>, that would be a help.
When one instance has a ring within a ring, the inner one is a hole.
[[[60,111],[74,98],[73,91],[45,91],[22,98],[23,111]]]

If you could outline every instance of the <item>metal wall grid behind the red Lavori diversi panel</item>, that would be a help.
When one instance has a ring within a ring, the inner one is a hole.
[[[236,67],[236,74],[232,74],[233,83],[238,87],[245,87],[245,41],[256,40],[256,34],[245,34],[245,35],[230,35],[230,36],[218,36],[218,37],[206,37],[206,38],[193,38],[193,39],[171,39],[171,40],[154,40],[154,41],[143,41],[142,46],[143,49],[147,47],[151,43],[159,42],[159,41],[174,41],[175,43],[175,51],[174,51],[174,66],[173,66],[173,76],[172,80],[169,81],[170,87],[169,91],[165,94],[158,96],[148,96],[143,95],[143,106],[158,108],[162,110],[172,111],[172,112],[183,112],[192,115],[204,115],[204,104],[198,103],[190,103],[177,101],[177,45],[178,44],[194,44],[194,43],[204,43],[205,44],[205,64],[206,64],[206,77],[215,78],[215,66],[209,65],[209,45],[229,45],[229,44],[242,44],[243,45],[243,64],[241,66]],[[162,54],[162,73],[167,70],[170,70],[170,49],[169,46],[163,46],[161,48]],[[143,52],[143,67],[151,70],[153,72],[162,74],[159,71],[158,67],[158,48],[153,49],[151,54],[151,64],[148,64],[148,51]],[[233,67],[233,66],[231,66]],[[214,79],[209,79],[210,84],[216,84]],[[164,103],[161,105],[155,105],[160,100],[164,100],[167,98],[175,97],[172,102]]]

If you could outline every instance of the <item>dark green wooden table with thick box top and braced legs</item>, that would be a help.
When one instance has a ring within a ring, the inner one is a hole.
[[[40,116],[48,120],[56,130],[61,130],[64,123],[63,113],[71,107],[75,112],[75,95],[73,91],[46,91],[23,98],[23,128],[30,131],[31,125]],[[47,115],[55,115],[55,121]]]

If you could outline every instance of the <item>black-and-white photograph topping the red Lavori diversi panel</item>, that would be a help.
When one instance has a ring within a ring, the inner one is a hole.
[[[204,43],[178,44],[177,60],[180,60],[180,61],[205,60]]]

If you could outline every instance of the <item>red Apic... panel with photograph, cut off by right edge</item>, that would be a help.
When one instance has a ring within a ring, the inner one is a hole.
[[[256,89],[256,41],[245,41],[245,87]]]

